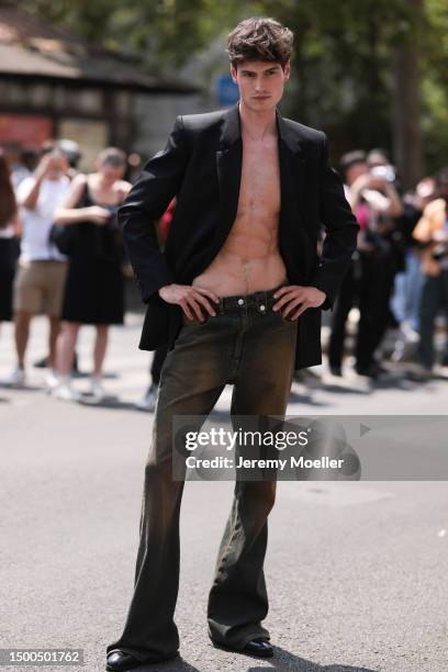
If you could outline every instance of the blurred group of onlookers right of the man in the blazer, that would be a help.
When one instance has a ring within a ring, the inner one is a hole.
[[[435,367],[448,366],[447,341],[439,361],[435,354],[435,326],[448,312],[448,168],[403,192],[385,152],[373,149],[344,155],[340,173],[360,231],[332,314],[329,370],[344,374],[355,309],[346,361],[359,376],[384,376],[390,361],[412,362],[413,374],[428,379]]]

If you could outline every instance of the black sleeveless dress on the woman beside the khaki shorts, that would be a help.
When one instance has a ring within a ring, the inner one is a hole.
[[[92,222],[70,224],[76,231],[69,256],[61,318],[81,324],[123,324],[123,243],[116,221],[120,205],[97,203],[86,183],[76,208],[91,205],[105,208],[111,217],[102,226]]]

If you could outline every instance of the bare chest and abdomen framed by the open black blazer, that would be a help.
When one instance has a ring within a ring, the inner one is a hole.
[[[223,247],[192,282],[220,296],[269,290],[287,279],[278,246],[280,170],[277,137],[243,133],[238,208]]]

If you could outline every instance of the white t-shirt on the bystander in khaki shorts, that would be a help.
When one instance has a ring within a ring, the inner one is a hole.
[[[16,198],[21,203],[27,197],[34,184],[34,177],[25,178],[18,188]],[[70,187],[68,177],[63,176],[57,180],[44,179],[37,197],[34,210],[21,206],[20,219],[23,224],[21,242],[21,261],[38,261],[55,259],[65,261],[67,257],[48,242],[49,229],[53,225],[53,215],[65,200]]]

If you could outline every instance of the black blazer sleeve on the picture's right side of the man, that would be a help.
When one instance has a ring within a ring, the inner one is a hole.
[[[333,307],[337,291],[356,249],[359,224],[345,197],[340,176],[328,164],[328,145],[322,133],[323,149],[320,170],[320,219],[326,235],[317,269],[310,281],[326,294],[321,306]]]

